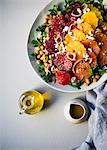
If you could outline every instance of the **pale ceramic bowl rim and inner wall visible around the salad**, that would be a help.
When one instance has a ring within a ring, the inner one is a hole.
[[[59,0],[54,0],[54,3],[55,4],[59,4],[61,7],[63,7],[63,3],[64,1],[59,2]],[[44,16],[46,14],[48,14],[48,10],[50,8],[53,7],[53,2],[50,2],[38,15],[38,17],[36,18],[36,20],[34,21],[34,24],[32,25],[32,28],[31,28],[31,31],[30,31],[30,34],[29,34],[29,38],[28,38],[28,44],[27,44],[27,50],[28,50],[28,57],[29,57],[29,60],[31,62],[31,65],[34,69],[34,71],[36,72],[36,74],[39,76],[39,78],[48,86],[50,86],[51,88],[55,89],[55,90],[58,90],[58,91],[61,91],[61,92],[69,92],[69,93],[75,93],[75,92],[83,92],[83,91],[88,91],[88,90],[91,90],[91,89],[94,89],[95,87],[97,87],[98,85],[100,85],[101,83],[103,83],[106,79],[107,79],[107,74],[104,74],[99,80],[98,82],[96,83],[92,83],[90,84],[89,86],[85,86],[85,87],[82,87],[82,89],[77,89],[77,88],[74,88],[74,87],[71,87],[69,85],[66,85],[66,86],[62,86],[60,84],[57,84],[57,83],[46,83],[39,75],[39,72],[38,72],[38,69],[37,69],[37,64],[36,64],[36,60],[35,58],[33,57],[30,57],[31,54],[33,53],[34,51],[34,47],[33,45],[31,44],[31,41],[34,39],[34,31],[35,29],[43,24],[44,22]]]

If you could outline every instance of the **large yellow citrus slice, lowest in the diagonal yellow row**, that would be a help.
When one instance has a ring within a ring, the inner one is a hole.
[[[76,53],[77,59],[83,58],[86,54],[86,49],[84,45],[79,41],[73,41],[66,46],[68,52]]]

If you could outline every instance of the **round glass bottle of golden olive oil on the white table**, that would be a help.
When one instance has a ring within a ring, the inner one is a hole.
[[[19,99],[19,104],[22,113],[35,114],[39,112],[44,105],[44,100],[47,98],[47,93],[41,94],[31,90],[24,92]]]

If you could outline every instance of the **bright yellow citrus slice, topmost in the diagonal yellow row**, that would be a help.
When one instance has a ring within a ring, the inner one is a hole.
[[[89,23],[93,27],[98,26],[98,18],[93,11],[83,14],[81,18],[84,19],[85,22]]]

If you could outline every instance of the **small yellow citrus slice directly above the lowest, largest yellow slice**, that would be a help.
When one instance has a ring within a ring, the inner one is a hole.
[[[75,28],[72,30],[72,33],[73,36],[76,37],[78,41],[83,41],[86,39],[85,34],[81,30]]]

